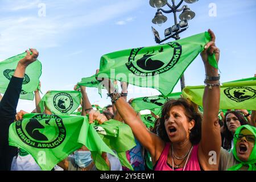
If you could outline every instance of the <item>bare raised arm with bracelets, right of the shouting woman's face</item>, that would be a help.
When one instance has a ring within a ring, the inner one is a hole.
[[[199,146],[199,161],[204,170],[217,170],[218,160],[221,148],[220,125],[218,123],[218,111],[220,109],[220,82],[211,81],[218,77],[218,69],[213,68],[208,62],[208,55],[215,53],[216,60],[220,59],[220,50],[215,46],[215,36],[211,30],[208,30],[212,41],[207,43],[201,57],[204,62],[205,89],[203,96],[203,121],[201,129],[201,142]],[[213,152],[213,154],[212,154]],[[216,162],[209,163],[210,156],[215,155]]]

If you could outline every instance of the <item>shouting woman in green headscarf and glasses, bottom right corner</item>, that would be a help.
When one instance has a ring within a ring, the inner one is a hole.
[[[221,148],[221,171],[256,171],[256,128],[249,125],[238,127],[234,134],[234,148],[228,152]]]

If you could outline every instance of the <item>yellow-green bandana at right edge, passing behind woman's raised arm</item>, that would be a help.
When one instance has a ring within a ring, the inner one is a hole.
[[[247,80],[247,78],[245,79]],[[204,85],[186,86],[183,97],[203,106]],[[225,82],[221,86],[220,109],[256,110],[256,80]]]

